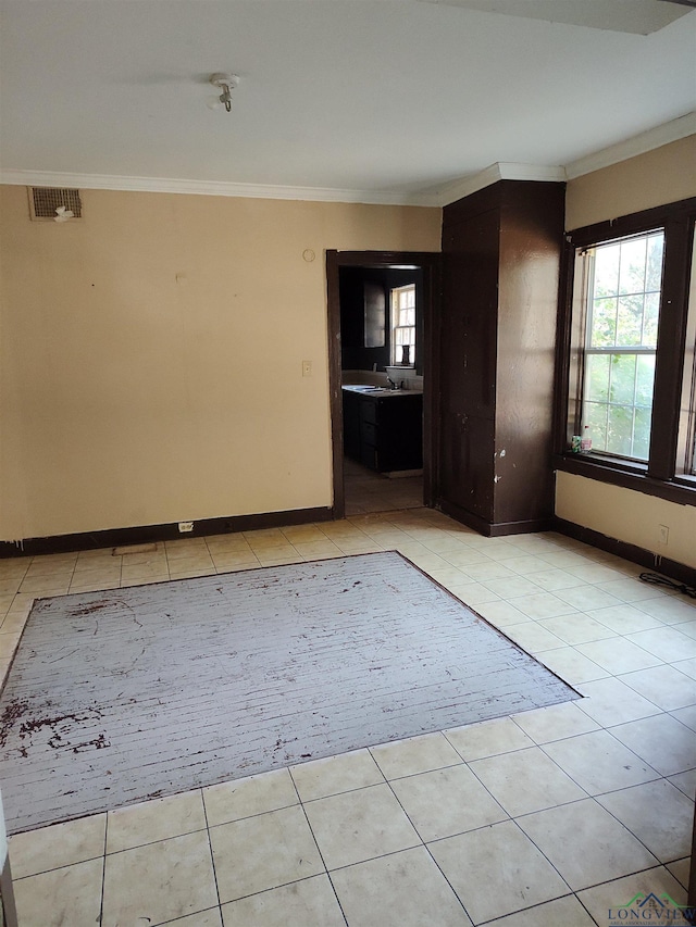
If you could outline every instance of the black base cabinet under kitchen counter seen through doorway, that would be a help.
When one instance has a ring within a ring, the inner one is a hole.
[[[378,473],[423,466],[423,394],[343,390],[344,453]]]

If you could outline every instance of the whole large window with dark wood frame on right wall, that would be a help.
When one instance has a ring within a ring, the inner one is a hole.
[[[696,505],[696,197],[568,231],[560,469]],[[593,453],[572,453],[592,431]]]

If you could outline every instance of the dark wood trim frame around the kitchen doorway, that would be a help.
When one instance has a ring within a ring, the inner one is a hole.
[[[340,364],[341,267],[389,268],[413,265],[423,272],[423,500],[433,506],[437,498],[437,359],[439,346],[440,253],[437,251],[326,251],[326,301],[328,308],[328,389],[334,478],[334,518],[346,512],[344,488],[344,421]]]

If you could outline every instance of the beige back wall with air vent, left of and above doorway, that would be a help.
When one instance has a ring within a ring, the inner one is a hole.
[[[437,251],[440,211],[83,202],[0,188],[0,540],[331,505],[324,251]]]

